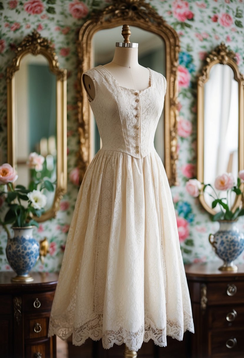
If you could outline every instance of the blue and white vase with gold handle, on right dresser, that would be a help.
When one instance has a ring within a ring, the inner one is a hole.
[[[220,271],[237,271],[234,260],[244,250],[244,234],[239,231],[236,221],[219,221],[219,230],[209,235],[209,242],[216,255],[224,261]]]

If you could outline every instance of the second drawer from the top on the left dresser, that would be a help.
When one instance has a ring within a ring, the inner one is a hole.
[[[39,339],[48,337],[49,317],[34,317],[25,319],[25,339]]]

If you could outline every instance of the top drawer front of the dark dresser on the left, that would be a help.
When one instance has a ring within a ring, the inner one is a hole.
[[[53,297],[54,291],[23,295],[23,311],[28,313],[49,312],[52,308]]]

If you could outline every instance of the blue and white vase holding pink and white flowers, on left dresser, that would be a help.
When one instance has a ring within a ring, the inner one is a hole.
[[[29,275],[39,258],[40,246],[33,238],[34,226],[13,227],[14,237],[8,238],[6,256],[10,266],[16,272],[14,282],[31,282],[33,278]]]

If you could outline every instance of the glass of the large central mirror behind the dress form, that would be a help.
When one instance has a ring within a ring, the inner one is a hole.
[[[130,26],[130,42],[138,43],[138,62],[141,66],[162,73],[166,77],[166,55],[164,40],[156,34]],[[123,42],[122,26],[104,29],[96,32],[92,38],[92,67],[104,65],[113,59],[116,42]],[[163,99],[162,99],[163,100]],[[91,121],[92,157],[101,148],[96,121]],[[155,139],[155,149],[164,163],[164,110],[158,122]]]

